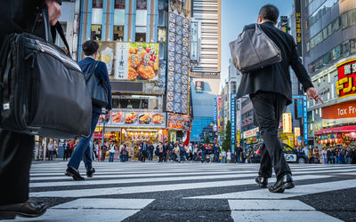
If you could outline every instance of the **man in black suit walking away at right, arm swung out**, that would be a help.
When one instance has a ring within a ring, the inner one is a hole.
[[[282,61],[242,75],[238,91],[239,98],[249,94],[263,138],[262,160],[259,176],[255,181],[260,187],[266,187],[273,167],[277,182],[269,189],[272,193],[283,193],[285,189],[295,186],[277,133],[280,117],[287,105],[292,103],[289,66],[293,68],[299,82],[303,84],[303,90],[306,91],[308,98],[322,102],[318,91],[313,88],[310,76],[303,67],[293,37],[274,27],[278,17],[277,7],[266,4],[259,12],[257,23],[279,47]],[[255,29],[255,24],[244,28],[244,30],[247,29]]]

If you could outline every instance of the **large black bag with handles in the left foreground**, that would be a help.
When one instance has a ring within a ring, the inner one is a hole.
[[[45,40],[28,33],[5,37],[0,51],[0,128],[42,137],[87,137],[92,99],[77,63],[52,44],[47,10]],[[55,26],[61,39],[61,25]]]

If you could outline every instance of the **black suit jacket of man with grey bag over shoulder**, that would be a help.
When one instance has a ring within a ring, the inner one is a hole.
[[[303,84],[304,91],[313,87],[312,80],[299,58],[293,36],[275,28],[272,22],[264,22],[260,26],[263,32],[278,45],[282,61],[242,75],[238,98],[257,91],[271,91],[285,96],[288,100],[287,104],[290,104],[292,102],[292,84],[288,67],[293,68],[299,82]],[[255,24],[246,26],[244,30],[246,29],[255,29]]]

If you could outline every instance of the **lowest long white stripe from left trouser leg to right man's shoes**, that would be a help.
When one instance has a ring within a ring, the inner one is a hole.
[[[306,175],[296,176],[295,180],[311,179],[311,178],[328,178],[326,175]],[[272,179],[273,181],[273,179]],[[226,180],[214,182],[201,182],[201,183],[185,183],[185,184],[172,184],[172,185],[148,185],[148,186],[125,186],[125,187],[109,187],[109,188],[95,188],[95,189],[77,189],[77,190],[56,190],[46,192],[30,193],[31,197],[84,197],[84,196],[98,196],[109,194],[137,194],[137,193],[150,193],[162,192],[171,190],[185,190],[197,189],[207,187],[222,187],[222,186],[240,186],[254,184],[254,179],[240,179],[240,180]]]

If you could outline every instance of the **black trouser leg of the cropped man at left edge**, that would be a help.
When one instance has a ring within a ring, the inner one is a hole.
[[[35,137],[0,129],[0,205],[28,201]]]

